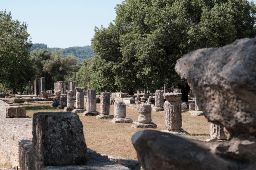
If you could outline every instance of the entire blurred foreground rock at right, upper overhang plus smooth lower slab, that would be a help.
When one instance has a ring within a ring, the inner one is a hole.
[[[224,127],[228,140],[139,131],[132,143],[143,169],[255,169],[255,55],[256,38],[198,49],[177,61],[175,70],[195,93],[199,109],[209,122]]]

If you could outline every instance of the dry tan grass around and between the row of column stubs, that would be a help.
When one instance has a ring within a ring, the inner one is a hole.
[[[86,107],[86,106],[85,106]],[[51,107],[51,104],[26,106],[27,116],[33,117],[35,112],[60,112]],[[100,104],[97,104],[97,111],[100,111]],[[114,105],[110,105],[110,114],[114,115]],[[132,145],[132,135],[143,129],[131,128],[131,124],[111,124],[110,120],[99,120],[95,117],[82,116],[78,114],[84,127],[84,136],[87,147],[98,153],[117,155],[129,159],[137,159],[136,151]],[[133,121],[138,119],[138,110],[127,107],[126,117]],[[152,122],[157,125],[155,130],[163,130],[164,111],[152,112]],[[188,112],[182,113],[182,128],[190,133],[184,135],[193,139],[210,138],[210,123],[204,116],[192,117]]]

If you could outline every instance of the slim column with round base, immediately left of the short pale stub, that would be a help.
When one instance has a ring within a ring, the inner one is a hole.
[[[110,111],[110,93],[102,92],[100,94],[100,114],[96,119],[113,119],[114,115],[109,114]]]

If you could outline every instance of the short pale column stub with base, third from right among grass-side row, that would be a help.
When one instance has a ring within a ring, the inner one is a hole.
[[[126,117],[126,105],[123,102],[114,103],[115,118],[110,123],[132,123],[132,119]]]

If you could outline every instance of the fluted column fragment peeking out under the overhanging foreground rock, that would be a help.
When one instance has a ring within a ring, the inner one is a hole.
[[[210,126],[210,136],[212,139],[218,139],[218,140],[226,140],[227,136],[224,132],[224,127],[221,125],[215,125],[211,123]]]

